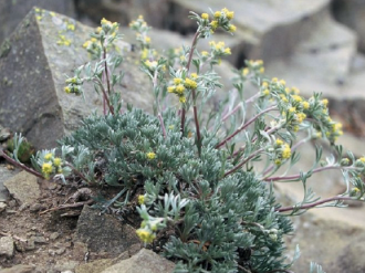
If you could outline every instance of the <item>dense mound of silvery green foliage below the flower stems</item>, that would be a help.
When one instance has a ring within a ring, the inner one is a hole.
[[[71,157],[83,162],[77,169],[84,176],[94,174],[100,183],[121,187],[122,203],[144,189],[145,204],[139,209],[144,222],[173,231],[152,246],[160,246],[165,256],[179,262],[176,272],[289,267],[283,235],[292,225],[275,211],[271,189],[250,171],[225,177],[232,166],[215,148],[215,137],[204,135],[199,158],[194,139],[181,137],[175,114],[167,112],[164,120],[169,128],[166,137],[158,119],[140,109],[93,115],[62,144],[74,147]],[[160,234],[157,231],[157,238]]]

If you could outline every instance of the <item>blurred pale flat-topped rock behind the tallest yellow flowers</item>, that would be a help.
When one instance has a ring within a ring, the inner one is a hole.
[[[197,13],[221,10],[234,11],[236,35],[242,41],[241,57],[270,61],[289,55],[296,45],[309,38],[322,21],[330,0],[309,2],[306,0],[220,0],[195,1],[171,0],[170,20],[180,32],[196,29],[196,22],[188,19],[189,11]]]

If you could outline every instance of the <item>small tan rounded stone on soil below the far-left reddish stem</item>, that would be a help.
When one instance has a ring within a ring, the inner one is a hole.
[[[24,170],[8,179],[3,185],[19,204],[31,204],[41,196],[36,177]]]

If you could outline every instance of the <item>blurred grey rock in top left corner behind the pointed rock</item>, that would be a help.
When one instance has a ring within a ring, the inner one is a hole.
[[[34,7],[74,17],[72,0],[12,0],[0,1],[0,44],[9,36],[27,13]]]

